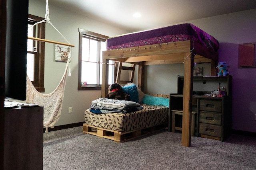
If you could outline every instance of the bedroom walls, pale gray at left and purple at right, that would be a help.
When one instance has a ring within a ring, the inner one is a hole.
[[[64,94],[64,104],[60,119],[56,125],[65,125],[84,121],[84,110],[88,109],[92,100],[100,98],[98,91],[78,91],[78,28],[87,29],[107,36],[128,33],[74,12],[63,11],[50,4],[50,21],[75,47],[72,48],[72,76],[67,78]],[[45,1],[30,0],[29,13],[44,18]],[[226,61],[229,72],[233,75],[233,115],[232,128],[242,131],[256,132],[256,68],[238,69],[238,44],[256,42],[256,9],[237,12],[200,20],[187,21],[192,23],[220,42],[219,61]],[[174,25],[178,23],[170,23]],[[162,25],[159,25],[160,27]],[[65,40],[46,24],[46,39],[65,42]],[[54,61],[54,45],[46,43],[45,88],[46,93],[52,92],[59,83],[64,72],[65,63]],[[199,66],[199,65],[198,65]],[[209,75],[210,68],[203,66],[204,75]],[[177,75],[184,74],[183,64],[166,64],[148,66],[146,68],[146,92],[168,94],[176,92]],[[154,70],[154,71],[153,71]],[[167,70],[167,72],[166,72]],[[159,73],[161,76],[159,76]],[[174,73],[174,74],[172,74]],[[149,76],[150,75],[150,76]],[[73,107],[73,113],[68,113],[68,107]]]

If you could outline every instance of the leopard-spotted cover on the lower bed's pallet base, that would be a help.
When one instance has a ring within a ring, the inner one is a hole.
[[[142,104],[143,109],[131,113],[95,114],[87,109],[84,120],[87,125],[113,131],[132,131],[153,127],[168,121],[168,107]]]

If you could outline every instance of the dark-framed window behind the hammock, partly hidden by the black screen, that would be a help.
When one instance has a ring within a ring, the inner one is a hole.
[[[34,23],[44,18],[28,14],[28,36],[45,39],[45,22],[34,27]],[[44,42],[28,39],[27,74],[39,92],[44,92]]]

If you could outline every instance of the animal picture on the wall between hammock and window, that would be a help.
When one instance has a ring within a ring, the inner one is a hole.
[[[55,44],[55,61],[67,62],[71,55],[71,47]]]

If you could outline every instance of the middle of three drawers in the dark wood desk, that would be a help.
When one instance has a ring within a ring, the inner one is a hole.
[[[221,125],[221,117],[221,113],[218,112],[200,111],[199,122]]]

